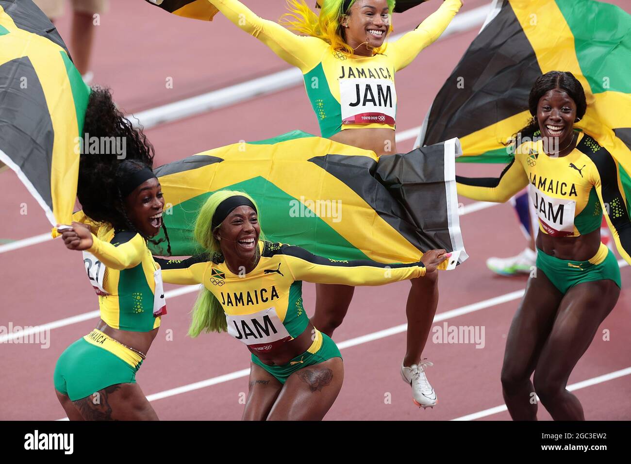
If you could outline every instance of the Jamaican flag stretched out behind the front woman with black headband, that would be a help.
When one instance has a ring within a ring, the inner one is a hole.
[[[333,259],[418,261],[423,251],[467,258],[457,213],[457,140],[405,155],[374,152],[293,131],[235,143],[158,167],[172,255],[199,253],[197,213],[215,191],[244,191],[259,206],[266,238]],[[163,232],[151,251],[167,253]],[[446,265],[445,265],[446,266]]]

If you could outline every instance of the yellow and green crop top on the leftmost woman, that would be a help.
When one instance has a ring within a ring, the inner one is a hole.
[[[114,329],[132,332],[159,327],[160,316],[167,314],[162,276],[144,238],[135,231],[95,223],[83,211],[74,213],[73,220],[93,231],[83,265],[98,295],[101,319]],[[53,229],[52,235],[61,234]]]

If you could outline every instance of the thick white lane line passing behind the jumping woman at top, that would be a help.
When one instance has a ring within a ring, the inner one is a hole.
[[[487,18],[490,6],[491,4],[489,3],[456,15],[438,40],[445,39],[445,37],[449,37],[454,33],[466,32],[481,26]],[[399,39],[401,35],[403,35],[403,33],[393,35],[390,40]],[[185,98],[184,100],[156,108],[139,111],[134,114],[133,117],[138,119],[136,126],[142,125],[145,129],[150,129],[159,124],[174,122],[179,119],[184,119],[185,117],[225,108],[243,102],[244,100],[269,95],[270,93],[279,92],[280,90],[302,85],[303,83],[304,78],[300,70],[298,68],[290,68],[219,90],[214,90],[213,92],[203,93],[196,97]],[[418,131],[416,131],[416,133],[418,133]],[[416,137],[416,134],[414,134],[413,137]]]

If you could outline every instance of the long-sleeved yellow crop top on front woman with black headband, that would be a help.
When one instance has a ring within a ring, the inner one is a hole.
[[[307,328],[302,280],[346,285],[383,285],[425,275],[423,263],[384,265],[369,260],[321,258],[297,246],[259,241],[261,259],[244,275],[208,254],[160,259],[167,283],[202,283],[221,303],[228,333],[256,354],[292,340]]]

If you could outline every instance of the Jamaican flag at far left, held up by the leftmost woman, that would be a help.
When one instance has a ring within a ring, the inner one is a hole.
[[[0,0],[0,162],[53,225],[71,220],[89,95],[44,13],[31,0]]]

